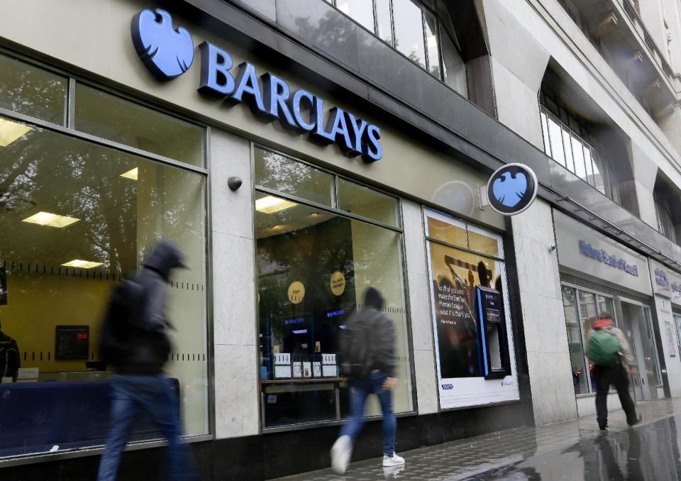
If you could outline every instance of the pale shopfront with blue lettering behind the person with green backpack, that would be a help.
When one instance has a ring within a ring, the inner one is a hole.
[[[585,355],[584,323],[601,311],[612,314],[636,358],[632,396],[636,401],[664,397],[648,259],[560,211],[553,217],[578,414],[595,412],[597,382]],[[614,391],[608,402],[619,406]]]

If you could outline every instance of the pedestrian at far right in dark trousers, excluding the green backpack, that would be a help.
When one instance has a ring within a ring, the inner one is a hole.
[[[591,324],[589,326],[589,324]],[[598,319],[585,321],[585,332],[587,346],[594,331],[603,329],[612,336],[615,336],[619,341],[619,363],[614,365],[594,365],[594,378],[597,382],[596,389],[596,419],[598,427],[605,431],[608,429],[608,392],[610,385],[617,389],[619,402],[622,404],[622,409],[626,414],[626,422],[629,426],[641,422],[641,416],[636,414],[636,406],[633,404],[631,395],[629,395],[629,373],[636,374],[636,359],[631,353],[629,342],[626,341],[624,333],[613,326],[612,316],[609,312],[601,312],[598,314]],[[587,348],[587,356],[588,348]],[[629,372],[627,372],[629,371]]]

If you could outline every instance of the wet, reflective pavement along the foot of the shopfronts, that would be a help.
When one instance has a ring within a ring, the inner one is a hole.
[[[345,476],[319,470],[280,479],[681,481],[681,399],[637,409],[643,423],[635,428],[626,425],[624,412],[613,411],[609,431],[599,431],[595,416],[585,416],[405,451],[399,453],[404,467],[381,468],[375,458],[352,463]],[[399,423],[397,436],[399,446]]]

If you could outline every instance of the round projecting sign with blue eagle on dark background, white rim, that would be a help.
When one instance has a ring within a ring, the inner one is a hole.
[[[506,164],[489,177],[487,200],[499,214],[520,214],[537,197],[537,187],[537,176],[530,167]]]

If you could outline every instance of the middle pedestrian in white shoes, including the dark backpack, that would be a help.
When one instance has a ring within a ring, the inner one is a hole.
[[[369,394],[376,394],[383,413],[383,466],[404,465],[395,453],[395,414],[392,389],[397,385],[395,370],[395,327],[382,313],[381,293],[370,287],[364,295],[364,307],[350,317],[340,336],[341,375],[348,377],[350,418],[341,436],[331,448],[331,468],[343,475],[348,468],[353,443],[364,427],[364,406]]]

